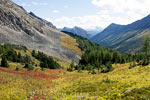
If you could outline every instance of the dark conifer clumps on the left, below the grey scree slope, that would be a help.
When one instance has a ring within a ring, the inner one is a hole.
[[[25,46],[20,45],[0,45],[0,57],[2,57],[2,67],[9,66],[7,63],[8,60],[10,62],[24,64],[24,68],[27,68],[28,70],[33,70],[34,66],[37,67],[37,62],[40,63],[39,66],[41,68],[61,68],[61,66],[56,61],[54,61],[52,57],[49,57],[42,52],[36,53],[35,50],[33,50],[31,53]]]

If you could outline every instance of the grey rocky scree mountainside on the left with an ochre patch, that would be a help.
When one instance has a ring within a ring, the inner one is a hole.
[[[71,62],[78,62],[79,54],[64,39],[75,40],[28,14],[11,0],[0,0],[0,43],[24,45]],[[65,46],[67,45],[67,46]],[[74,48],[78,49],[77,46]]]

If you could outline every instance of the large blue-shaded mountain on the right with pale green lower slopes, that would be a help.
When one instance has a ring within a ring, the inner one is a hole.
[[[91,41],[113,50],[131,53],[139,52],[146,35],[150,35],[150,15],[128,25],[112,23]]]

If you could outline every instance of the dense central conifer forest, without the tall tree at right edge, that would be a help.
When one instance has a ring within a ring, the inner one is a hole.
[[[142,59],[141,55],[115,52],[75,34],[65,33],[75,38],[79,44],[78,47],[83,51],[81,60],[75,67],[76,70],[93,72],[97,69],[98,73],[106,73],[113,70],[112,64],[124,64]]]

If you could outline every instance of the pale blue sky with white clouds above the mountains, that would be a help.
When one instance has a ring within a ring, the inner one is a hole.
[[[150,14],[150,0],[13,0],[27,12],[52,22],[57,28],[106,28],[129,24]]]

